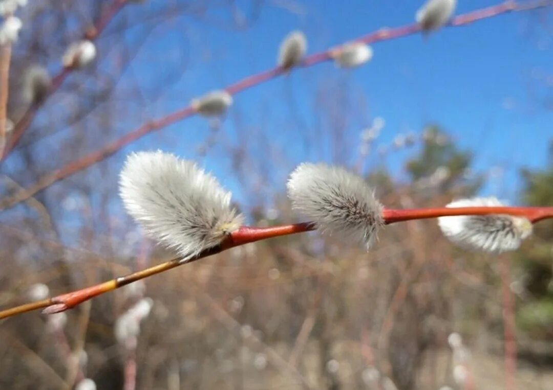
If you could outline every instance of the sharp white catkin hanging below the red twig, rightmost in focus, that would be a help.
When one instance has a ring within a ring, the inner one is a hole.
[[[460,199],[447,207],[499,207],[497,198]],[[511,215],[460,215],[440,217],[442,233],[453,243],[471,250],[505,252],[517,250],[532,234],[532,223]]]

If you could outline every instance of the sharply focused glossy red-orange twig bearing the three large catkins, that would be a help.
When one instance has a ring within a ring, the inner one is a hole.
[[[436,208],[436,209],[384,209],[382,217],[385,225],[397,222],[404,222],[414,219],[426,219],[445,217],[453,215],[490,215],[490,214],[508,214],[525,217],[530,222],[535,223],[545,218],[553,218],[553,207],[459,207],[459,208]],[[95,286],[82,288],[77,291],[61,294],[56,297],[43,299],[43,301],[27,303],[0,311],[0,319],[12,317],[13,315],[30,312],[31,310],[44,309],[43,313],[53,314],[64,312],[79,305],[88,299],[97,297],[101,294],[113,291],[119,287],[135,281],[156,275],[161,272],[171,270],[185,263],[194,262],[204,257],[215,255],[231,249],[235,246],[254,243],[255,241],[276,238],[280,236],[305,233],[306,231],[315,230],[316,226],[312,222],[297,223],[283,226],[271,226],[269,228],[257,228],[253,226],[242,226],[236,231],[229,234],[220,245],[211,247],[200,255],[190,259],[183,260],[181,257],[166,261],[159,265],[147,268],[142,271],[130,273],[126,276],[120,276],[96,284]]]

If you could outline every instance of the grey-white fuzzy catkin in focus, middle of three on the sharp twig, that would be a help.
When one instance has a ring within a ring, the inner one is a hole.
[[[383,225],[382,205],[363,178],[326,164],[299,165],[288,180],[292,207],[324,233],[369,249]]]

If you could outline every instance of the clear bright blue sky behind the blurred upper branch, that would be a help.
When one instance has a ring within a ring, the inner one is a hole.
[[[459,3],[456,13],[497,1]],[[274,66],[280,41],[291,30],[305,32],[311,54],[380,27],[411,23],[420,4],[411,0],[401,2],[401,6],[398,2],[368,0],[273,1],[265,3],[253,25],[244,30],[229,30],[222,24],[185,15],[160,27],[133,67],[147,75],[160,71],[157,64],[164,61],[185,60],[180,79],[152,105],[151,114],[159,117],[210,89]],[[247,14],[251,2],[239,1],[237,7]],[[551,17],[548,12],[545,15]],[[207,19],[228,17],[228,7],[222,7],[208,13]],[[477,170],[504,170],[504,175],[483,192],[513,199],[519,188],[519,168],[546,164],[553,137],[553,112],[543,107],[544,97],[552,88],[553,46],[551,35],[537,21],[536,13],[500,15],[466,27],[443,29],[427,39],[413,35],[375,44],[373,60],[353,71],[338,70],[331,63],[297,70],[290,77],[238,94],[220,131],[230,143],[239,142],[240,131],[246,132],[252,143],[263,135],[276,152],[270,154],[258,145],[257,153],[267,152],[269,159],[282,157],[273,164],[278,173],[276,183],[271,183],[278,187],[280,182],[282,188],[287,171],[298,162],[332,160],[328,145],[327,149],[313,147],[315,150],[301,146],[302,132],[312,132],[317,126],[325,131],[328,118],[317,117],[320,107],[315,102],[327,97],[333,104],[332,98],[337,99],[333,95],[340,93],[336,88],[346,85],[344,104],[353,113],[344,134],[351,156],[357,154],[360,131],[374,117],[386,122],[378,139],[382,144],[390,143],[398,133],[420,133],[425,124],[438,123],[460,147],[473,151]],[[163,43],[155,44],[159,36],[163,36]],[[147,85],[148,77],[144,80]],[[150,135],[128,150],[145,149],[154,143],[194,158],[210,127],[205,119],[192,118],[162,133]],[[229,177],[230,160],[217,150],[216,146],[202,162],[219,176]],[[387,158],[398,180],[405,177],[405,158],[415,151],[416,147]],[[377,156],[369,159],[378,162]],[[241,183],[222,181],[244,201]]]

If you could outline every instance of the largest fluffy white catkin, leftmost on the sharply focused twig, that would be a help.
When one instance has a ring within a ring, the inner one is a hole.
[[[169,153],[129,155],[119,187],[127,212],[184,259],[217,246],[242,224],[231,193],[215,177]]]

